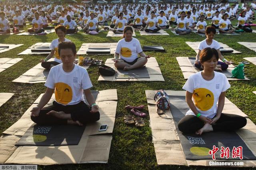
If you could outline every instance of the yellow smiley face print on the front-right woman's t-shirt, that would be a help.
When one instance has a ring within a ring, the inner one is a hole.
[[[193,98],[195,106],[202,111],[209,110],[214,104],[214,95],[210,90],[206,88],[195,89]]]

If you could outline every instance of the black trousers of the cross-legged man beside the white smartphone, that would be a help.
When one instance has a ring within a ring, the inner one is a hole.
[[[66,125],[67,119],[59,119],[52,115],[46,115],[49,111],[64,111],[66,114],[71,114],[73,121],[80,121],[82,124],[95,122],[100,120],[100,113],[90,113],[90,108],[81,101],[75,105],[64,106],[56,101],[50,106],[43,107],[37,117],[31,117],[31,120],[39,125]]]

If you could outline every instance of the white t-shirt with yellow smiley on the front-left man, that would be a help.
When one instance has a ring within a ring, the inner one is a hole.
[[[92,87],[92,82],[85,68],[75,64],[71,72],[65,72],[62,64],[51,68],[44,86],[54,89],[57,103],[75,105],[84,102],[83,90]]]

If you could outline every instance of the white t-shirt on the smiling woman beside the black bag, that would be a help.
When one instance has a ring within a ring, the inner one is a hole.
[[[127,62],[132,62],[138,58],[138,54],[142,52],[140,41],[132,38],[132,41],[126,42],[125,39],[120,39],[116,45],[116,53],[120,54],[120,59]]]

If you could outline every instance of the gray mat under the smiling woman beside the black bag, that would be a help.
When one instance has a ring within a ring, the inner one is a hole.
[[[132,70],[116,69],[116,78],[150,78],[146,67]]]

